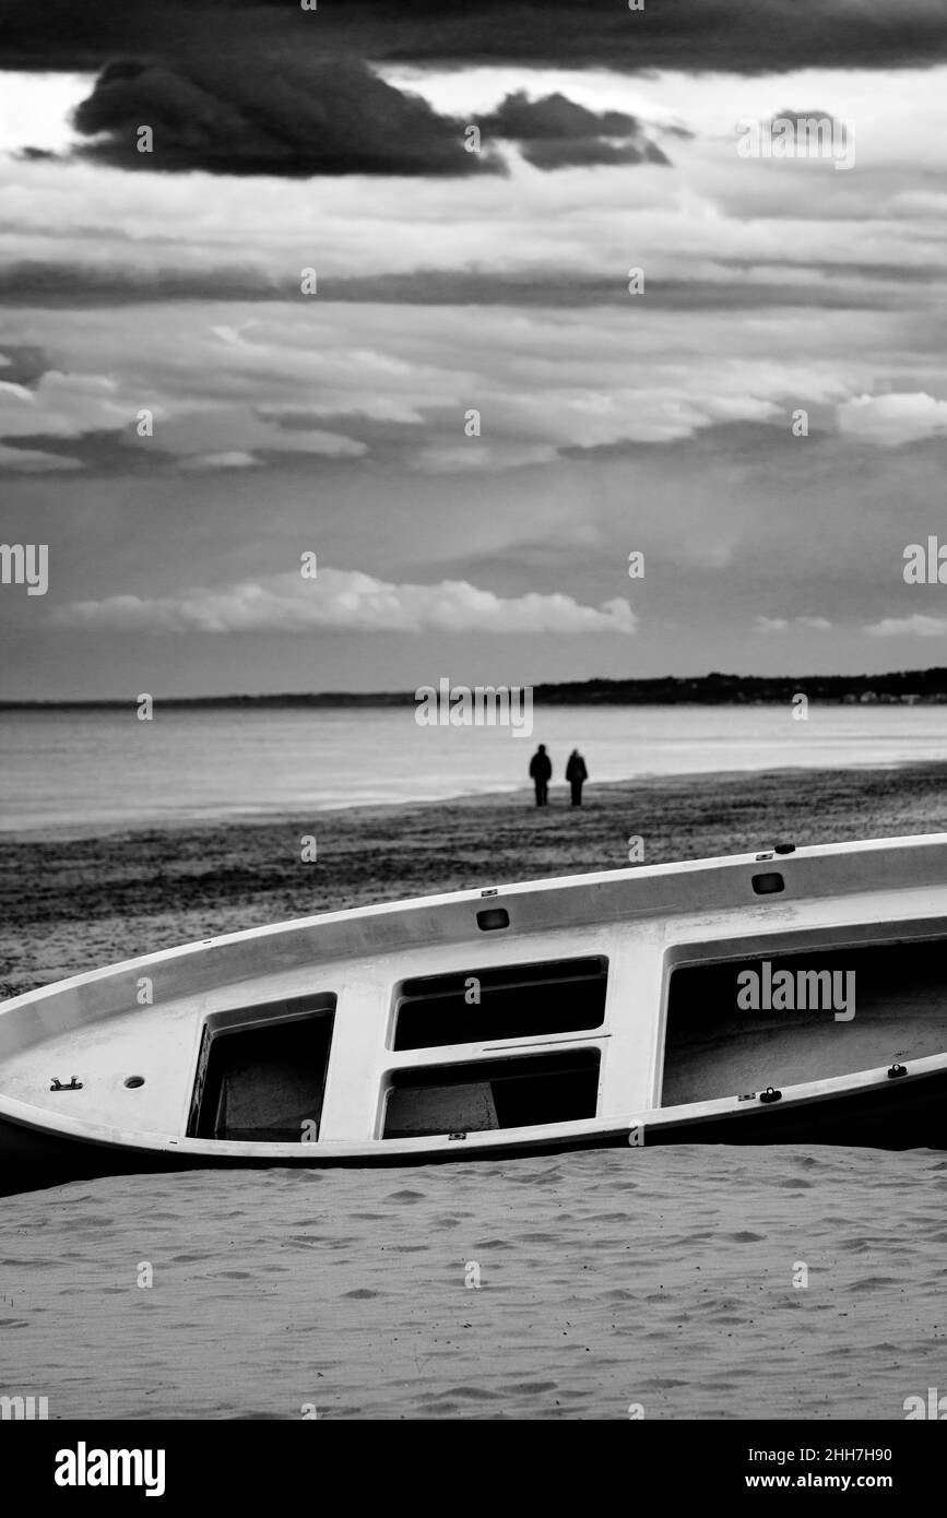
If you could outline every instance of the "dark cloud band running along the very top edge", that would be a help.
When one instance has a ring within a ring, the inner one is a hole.
[[[924,68],[947,56],[939,0],[0,0],[8,68],[99,70],[123,53],[178,56],[241,36],[372,61],[516,62],[624,71]]]

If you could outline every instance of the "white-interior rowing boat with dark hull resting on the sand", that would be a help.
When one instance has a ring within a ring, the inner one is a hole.
[[[663,1143],[944,1148],[947,833],[326,912],[0,1003],[6,1192]]]

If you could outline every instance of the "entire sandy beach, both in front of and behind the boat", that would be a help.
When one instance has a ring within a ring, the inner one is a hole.
[[[310,912],[947,829],[947,765],[6,836],[3,996]],[[3,1390],[50,1418],[903,1418],[947,1384],[947,1157],[618,1149],[11,1196]],[[138,1284],[152,1268],[152,1284]],[[470,1266],[477,1264],[477,1271]],[[806,1266],[806,1284],[800,1266]],[[477,1280],[480,1284],[475,1284]],[[797,1284],[794,1284],[797,1283]]]

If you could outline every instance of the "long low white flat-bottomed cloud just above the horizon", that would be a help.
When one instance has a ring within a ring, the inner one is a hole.
[[[393,584],[354,569],[319,569],[244,580],[217,589],[194,586],[181,595],[112,595],[74,601],[52,613],[58,627],[155,633],[310,633],[314,628],[398,633],[622,633],[636,631],[627,601],[580,606],[569,595],[495,595],[466,580]]]

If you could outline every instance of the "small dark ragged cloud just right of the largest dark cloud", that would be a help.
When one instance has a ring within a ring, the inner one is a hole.
[[[624,111],[589,111],[563,94],[540,100],[524,93],[507,96],[478,124],[490,137],[518,141],[536,168],[668,162],[636,117]]]

